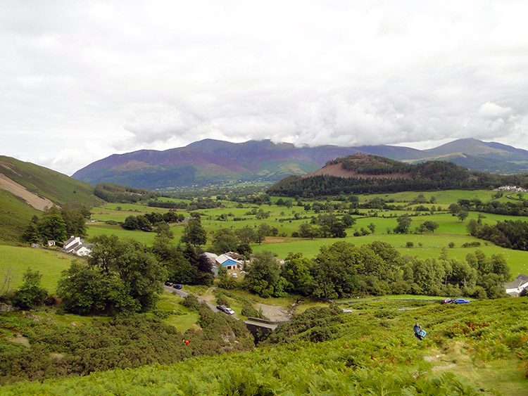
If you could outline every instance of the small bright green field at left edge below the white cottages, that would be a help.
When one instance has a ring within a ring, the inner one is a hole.
[[[41,285],[49,293],[55,293],[61,272],[70,267],[72,260],[82,260],[56,250],[23,248],[0,245],[0,276],[11,268],[11,288],[23,283],[23,275],[28,267],[42,274]],[[4,281],[4,277],[1,277]]]

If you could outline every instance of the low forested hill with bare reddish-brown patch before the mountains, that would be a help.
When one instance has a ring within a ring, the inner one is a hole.
[[[268,189],[279,196],[327,196],[339,193],[394,193],[486,189],[505,184],[528,186],[528,175],[499,175],[470,172],[446,161],[416,165],[377,155],[354,154],[326,163],[322,169],[303,176],[290,176]]]

